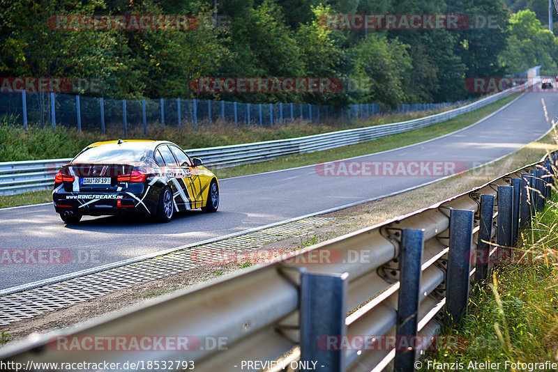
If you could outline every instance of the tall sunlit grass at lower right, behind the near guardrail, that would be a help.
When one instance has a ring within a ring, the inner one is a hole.
[[[555,370],[534,363],[558,359],[557,201],[555,195],[520,233],[513,259],[470,297],[463,327],[444,330],[457,343],[428,352],[422,371],[448,369],[448,363],[472,371],[479,369],[475,362],[490,362],[491,371]]]

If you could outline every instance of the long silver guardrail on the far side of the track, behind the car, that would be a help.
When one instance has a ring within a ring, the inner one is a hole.
[[[531,80],[530,82],[533,82]],[[512,88],[521,91],[522,86]],[[294,154],[312,153],[340,146],[361,144],[392,134],[408,132],[422,127],[428,127],[455,116],[474,111],[495,102],[511,93],[512,89],[503,91],[490,97],[467,104],[457,109],[442,112],[424,118],[401,123],[375,125],[351,130],[340,130],[324,134],[315,134],[294,139],[278,139],[275,141],[257,142],[232,146],[211,148],[195,148],[187,150],[188,155],[200,157],[207,166],[224,168],[253,162],[264,162],[278,157]],[[56,169],[71,159],[34,160],[27,162],[0,162],[0,194],[18,194],[27,191],[49,189],[54,182]]]

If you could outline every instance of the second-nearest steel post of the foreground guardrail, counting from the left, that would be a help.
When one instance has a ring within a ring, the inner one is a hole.
[[[423,260],[423,231],[402,229],[399,253],[400,286],[398,294],[396,339],[413,337],[417,333],[418,298],[421,292],[421,266]],[[414,371],[414,348],[395,349],[394,369],[397,372]]]

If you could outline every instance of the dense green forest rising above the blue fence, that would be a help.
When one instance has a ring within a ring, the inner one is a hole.
[[[458,14],[468,22],[433,29],[324,22],[351,14]],[[186,15],[191,22],[182,29],[87,29],[61,15]],[[95,79],[94,95],[110,98],[394,107],[469,98],[469,77],[534,65],[543,75],[558,73],[545,0],[10,0],[2,1],[0,24],[0,77]],[[191,86],[199,77],[334,77],[343,88],[199,93]]]

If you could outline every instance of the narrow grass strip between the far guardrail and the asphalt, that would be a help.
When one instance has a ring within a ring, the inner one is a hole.
[[[451,121],[446,121],[444,123],[439,123],[430,127],[413,130],[411,132],[405,132],[381,139],[376,139],[375,141],[366,142],[364,144],[333,148],[331,150],[318,151],[316,153],[282,157],[280,159],[271,160],[269,162],[259,162],[241,166],[232,166],[230,168],[215,169],[214,171],[218,178],[243,176],[246,174],[262,173],[265,171],[275,171],[278,169],[287,169],[296,166],[316,164],[319,162],[329,162],[332,160],[377,153],[379,151],[390,150],[392,148],[398,148],[410,144],[416,144],[417,142],[439,137],[444,134],[454,132],[455,130],[459,130],[462,127],[467,127],[467,125],[476,123],[482,118],[485,118],[486,116],[492,114],[492,112],[496,111],[497,109],[503,107],[505,104],[508,104],[509,102],[511,102],[511,100],[517,98],[519,94],[520,93],[513,93],[506,98],[502,98],[502,100],[499,100],[498,102],[489,104],[488,106],[485,106],[476,111],[460,115],[457,118],[452,119]],[[303,124],[299,123],[299,125]],[[335,128],[330,129],[335,130]],[[338,130],[339,128],[336,129]],[[176,142],[180,143],[179,141]],[[86,144],[84,144],[83,146],[86,146]],[[73,155],[67,156],[70,157]],[[35,203],[45,203],[51,200],[52,199],[50,192],[28,192],[17,195],[0,196],[0,208],[24,206]]]

